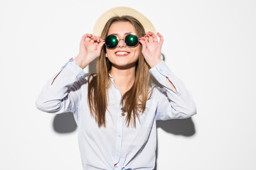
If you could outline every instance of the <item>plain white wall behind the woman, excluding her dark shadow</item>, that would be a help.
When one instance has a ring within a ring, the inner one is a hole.
[[[164,35],[166,63],[196,101],[193,135],[158,128],[157,169],[256,169],[256,1],[245,0],[1,0],[0,169],[82,169],[77,131],[55,132],[35,101],[115,6]]]

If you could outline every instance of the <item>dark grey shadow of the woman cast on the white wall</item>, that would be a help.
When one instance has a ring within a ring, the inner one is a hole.
[[[161,54],[162,60],[164,55]],[[89,72],[96,72],[96,60],[89,64]],[[58,133],[74,132],[77,128],[73,113],[63,113],[55,115],[53,120],[53,129]],[[196,133],[195,125],[191,118],[187,119],[174,119],[174,120],[158,120],[156,121],[156,128],[169,132],[174,135],[183,135],[191,137]],[[157,142],[158,143],[158,142]],[[158,156],[158,145],[156,145],[156,160]],[[156,166],[155,169],[156,170]]]

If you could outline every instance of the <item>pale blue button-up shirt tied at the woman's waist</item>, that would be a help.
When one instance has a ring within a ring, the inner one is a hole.
[[[164,61],[149,69],[161,87],[153,89],[151,99],[146,101],[146,111],[140,114],[140,123],[136,121],[136,128],[127,128],[126,115],[121,115],[122,95],[109,74],[111,85],[108,89],[107,123],[105,128],[98,128],[87,104],[88,74],[71,60],[60,69],[53,84],[57,74],[48,80],[38,96],[36,107],[55,114],[73,112],[78,125],[83,169],[154,169],[156,120],[189,118],[196,114],[196,104],[183,81],[171,72]],[[166,77],[174,84],[177,93],[171,89]]]

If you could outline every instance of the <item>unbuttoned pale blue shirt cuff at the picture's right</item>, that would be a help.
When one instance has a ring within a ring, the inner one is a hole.
[[[151,67],[149,69],[149,72],[152,74],[152,76],[158,81],[161,85],[166,87],[167,89],[174,91],[171,89],[170,85],[168,84],[166,77],[171,81],[171,83],[174,85],[176,91],[174,91],[175,94],[180,96],[180,90],[178,87],[178,81],[177,77],[171,72],[171,69],[166,65],[164,61],[159,62],[159,64],[156,64],[156,66]]]

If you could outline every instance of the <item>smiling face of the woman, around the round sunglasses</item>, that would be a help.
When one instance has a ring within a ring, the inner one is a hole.
[[[125,69],[129,67],[134,67],[139,58],[139,45],[136,47],[128,47],[124,40],[126,35],[129,33],[136,34],[134,27],[128,21],[118,21],[112,23],[110,30],[107,35],[116,35],[119,39],[118,45],[114,49],[107,50],[108,60],[112,63],[112,67],[117,67],[119,69]]]

